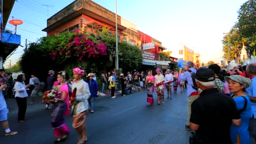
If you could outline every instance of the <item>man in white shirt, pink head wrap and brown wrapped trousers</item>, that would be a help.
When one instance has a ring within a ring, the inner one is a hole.
[[[78,133],[78,143],[83,144],[87,141],[85,120],[88,113],[88,100],[91,96],[88,83],[81,77],[85,74],[80,68],[73,69],[75,82],[72,85],[72,91],[76,88],[75,98],[70,97],[69,103],[72,103],[73,128]]]

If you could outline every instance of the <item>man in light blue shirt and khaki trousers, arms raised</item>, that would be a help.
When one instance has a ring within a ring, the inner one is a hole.
[[[194,63],[192,61],[187,62],[187,67],[184,68],[186,72],[184,72],[183,75],[181,75],[182,69],[179,71],[179,81],[186,81],[187,80],[187,96],[189,97],[188,100],[188,107],[187,107],[187,123],[185,124],[185,128],[190,131],[189,127],[189,119],[191,115],[191,104],[195,99],[198,98],[198,92],[197,89],[193,88],[193,80],[191,77],[190,72],[196,72],[196,69],[194,69]]]

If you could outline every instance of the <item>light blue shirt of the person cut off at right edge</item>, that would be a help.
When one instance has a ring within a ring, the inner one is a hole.
[[[249,88],[246,89],[247,96],[256,97],[256,77],[253,77],[252,84]],[[256,118],[256,102],[251,101],[251,115],[254,115]]]

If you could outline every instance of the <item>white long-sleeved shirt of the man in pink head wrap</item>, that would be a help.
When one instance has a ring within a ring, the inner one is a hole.
[[[88,101],[89,97],[91,96],[90,89],[88,86],[88,83],[86,83],[83,79],[81,79],[79,82],[74,82],[72,84],[72,91],[77,88],[77,92],[75,94],[76,101],[80,101],[77,104],[76,114],[80,112],[84,112],[88,109]],[[74,105],[72,106],[72,108]]]

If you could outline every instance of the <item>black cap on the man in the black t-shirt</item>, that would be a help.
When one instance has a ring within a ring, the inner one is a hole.
[[[195,78],[201,82],[211,82],[215,80],[215,73],[211,69],[201,67],[197,70]]]

